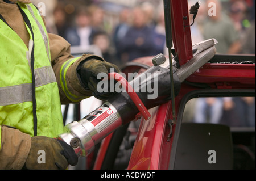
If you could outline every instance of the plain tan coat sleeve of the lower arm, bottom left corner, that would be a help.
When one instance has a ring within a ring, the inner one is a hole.
[[[31,148],[30,135],[0,126],[0,142],[0,170],[22,169]]]

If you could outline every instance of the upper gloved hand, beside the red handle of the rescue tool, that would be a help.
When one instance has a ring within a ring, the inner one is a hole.
[[[95,59],[88,60],[81,66],[79,71],[81,81],[84,83],[86,88],[92,91],[92,95],[97,99],[106,100],[109,96],[113,96],[115,94],[110,91],[101,93],[97,91],[97,84],[101,81],[97,79],[97,75],[99,73],[108,74],[111,68],[117,73],[120,72],[117,65]],[[106,79],[105,81],[108,80]],[[108,86],[108,89],[110,89],[110,86]]]

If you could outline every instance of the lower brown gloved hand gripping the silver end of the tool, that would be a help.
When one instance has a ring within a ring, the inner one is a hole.
[[[39,150],[43,153],[38,152]],[[29,170],[67,169],[69,164],[75,166],[77,162],[78,157],[75,151],[64,141],[35,136],[31,138],[30,153],[23,168]]]

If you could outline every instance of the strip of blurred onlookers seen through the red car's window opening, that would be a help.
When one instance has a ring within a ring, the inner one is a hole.
[[[255,128],[255,97],[196,98],[186,106],[185,122]]]

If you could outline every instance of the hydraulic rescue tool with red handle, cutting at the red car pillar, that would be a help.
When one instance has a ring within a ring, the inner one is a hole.
[[[172,71],[170,71],[169,60],[159,54],[152,60],[154,66],[130,82],[117,73],[110,73],[109,77],[121,82],[122,89],[125,91],[109,98],[80,121],[65,125],[67,131],[60,134],[58,138],[71,145],[78,156],[87,156],[94,150],[94,145],[118,127],[138,116],[143,116],[145,120],[150,119],[147,109],[172,99],[171,84],[174,85],[174,94],[177,96],[181,82],[214,56],[216,43],[215,39],[210,39],[193,45],[193,58],[179,68],[172,59]],[[171,82],[170,72],[173,73],[173,82]],[[138,87],[138,89],[134,90],[131,87]],[[154,92],[156,96],[152,95],[152,87],[156,90]]]

